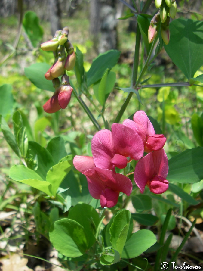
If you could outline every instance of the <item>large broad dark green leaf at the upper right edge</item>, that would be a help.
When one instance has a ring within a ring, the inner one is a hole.
[[[203,23],[179,18],[170,23],[170,32],[165,50],[187,79],[193,78],[203,64]]]

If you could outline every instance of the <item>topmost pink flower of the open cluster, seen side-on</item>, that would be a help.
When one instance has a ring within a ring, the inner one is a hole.
[[[156,135],[154,127],[142,110],[137,111],[132,120],[124,120],[123,124],[130,127],[141,137],[145,152],[159,151],[166,142],[164,135]]]

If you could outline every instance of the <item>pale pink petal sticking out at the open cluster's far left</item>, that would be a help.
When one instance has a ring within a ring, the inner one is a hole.
[[[82,173],[95,167],[92,156],[76,155],[73,159],[73,165],[78,171]]]

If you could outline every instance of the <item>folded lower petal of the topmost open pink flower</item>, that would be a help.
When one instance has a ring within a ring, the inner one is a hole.
[[[166,138],[164,135],[148,136],[145,150],[159,151],[164,147],[165,143],[166,143]]]

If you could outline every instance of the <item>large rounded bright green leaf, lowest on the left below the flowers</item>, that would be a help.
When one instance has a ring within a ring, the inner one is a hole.
[[[64,218],[54,222],[49,236],[54,248],[67,257],[80,257],[88,248],[89,241],[84,228],[71,219]]]

